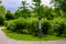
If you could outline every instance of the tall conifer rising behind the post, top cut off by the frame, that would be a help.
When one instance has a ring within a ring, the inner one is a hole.
[[[34,3],[32,3],[34,6],[31,7],[33,10],[34,10],[34,13],[37,14],[37,15],[41,15],[41,0],[33,0]]]

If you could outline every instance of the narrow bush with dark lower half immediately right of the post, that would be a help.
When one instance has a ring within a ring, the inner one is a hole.
[[[43,34],[48,34],[50,29],[51,29],[51,23],[50,23],[50,21],[46,20],[46,19],[44,19],[44,20],[43,20],[43,23],[42,23],[42,32],[43,32]]]

